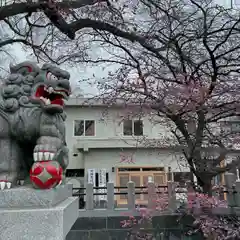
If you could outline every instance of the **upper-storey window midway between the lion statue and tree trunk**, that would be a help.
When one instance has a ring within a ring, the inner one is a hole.
[[[141,120],[124,120],[123,122],[124,136],[142,136],[143,122]]]

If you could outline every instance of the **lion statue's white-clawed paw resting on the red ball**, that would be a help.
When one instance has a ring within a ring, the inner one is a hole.
[[[51,161],[54,159],[57,149],[51,145],[36,145],[34,148],[33,159],[35,162]]]

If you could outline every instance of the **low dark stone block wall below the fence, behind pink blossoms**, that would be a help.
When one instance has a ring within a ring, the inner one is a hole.
[[[121,227],[121,221],[126,217],[85,217],[79,218],[66,240],[125,240],[128,229]],[[190,218],[185,219],[185,224],[191,223]],[[151,226],[145,228],[155,236],[155,240],[180,240],[182,239],[183,226],[177,222],[177,216],[153,217]],[[184,238],[185,239],[185,238]],[[187,238],[186,238],[187,239]],[[202,237],[189,238],[202,240]]]

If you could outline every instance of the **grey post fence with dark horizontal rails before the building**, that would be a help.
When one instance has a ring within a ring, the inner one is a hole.
[[[225,189],[219,191],[213,191],[213,195],[218,196],[221,192],[226,195],[226,200],[229,207],[240,207],[240,180],[236,180],[236,176],[232,173],[225,174]],[[189,185],[190,186],[190,185]],[[116,189],[126,189],[125,192],[115,191]],[[106,209],[113,210],[116,207],[116,196],[126,195],[126,205],[125,208],[128,210],[136,209],[136,195],[145,194],[146,195],[146,207],[153,209],[156,208],[156,200],[160,197],[166,197],[168,201],[168,208],[174,211],[178,207],[178,196],[177,195],[187,195],[188,197],[193,195],[193,191],[189,187],[182,191],[183,189],[178,189],[175,182],[169,181],[166,186],[156,187],[154,182],[148,182],[145,187],[135,187],[134,182],[128,182],[127,187],[114,187],[113,183],[107,183],[107,187],[94,188],[93,184],[88,183],[86,185],[85,193],[76,193],[77,188],[73,189],[75,192],[73,196],[85,196],[85,210],[93,210],[95,208],[95,196],[105,195],[106,200],[104,206]],[[83,190],[83,189],[82,189]],[[104,190],[105,192],[98,192],[96,190]],[[180,191],[179,191],[180,190]]]

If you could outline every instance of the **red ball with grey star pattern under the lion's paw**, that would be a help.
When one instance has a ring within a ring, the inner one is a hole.
[[[56,161],[35,162],[30,169],[30,179],[35,188],[50,189],[62,181],[63,170]]]

